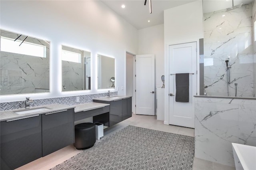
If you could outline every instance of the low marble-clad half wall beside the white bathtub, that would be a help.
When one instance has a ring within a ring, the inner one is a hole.
[[[195,97],[195,157],[235,166],[231,143],[256,146],[256,100]]]

